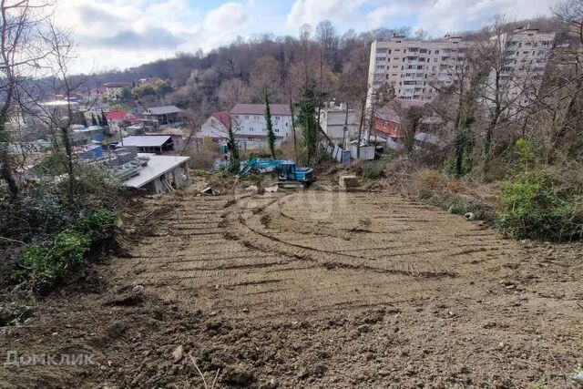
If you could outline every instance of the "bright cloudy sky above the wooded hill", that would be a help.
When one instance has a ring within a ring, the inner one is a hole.
[[[557,0],[57,0],[56,22],[73,31],[77,71],[123,69],[270,32],[297,36],[329,19],[342,34],[412,26],[442,36],[493,15],[549,15]]]

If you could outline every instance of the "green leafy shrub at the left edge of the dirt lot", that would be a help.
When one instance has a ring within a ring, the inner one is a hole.
[[[116,212],[95,210],[75,225],[56,235],[51,246],[32,245],[24,251],[22,262],[13,272],[16,282],[29,282],[36,291],[46,291],[82,266],[87,253],[113,234]]]

